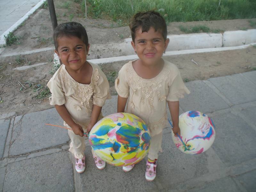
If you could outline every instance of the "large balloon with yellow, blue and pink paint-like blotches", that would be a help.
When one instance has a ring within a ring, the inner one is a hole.
[[[150,139],[146,123],[130,113],[115,113],[102,118],[89,135],[96,155],[115,166],[140,162],[148,153]]]

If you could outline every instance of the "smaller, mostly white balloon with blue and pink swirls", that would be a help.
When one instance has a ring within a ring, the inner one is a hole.
[[[180,136],[172,140],[186,154],[200,154],[209,149],[215,139],[215,125],[210,117],[199,111],[187,111],[179,118]]]

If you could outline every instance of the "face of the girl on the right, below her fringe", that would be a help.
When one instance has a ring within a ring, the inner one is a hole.
[[[168,44],[169,39],[164,41],[162,33],[153,27],[143,33],[141,28],[138,29],[134,42],[132,41],[132,47],[144,65],[156,65],[161,60]]]

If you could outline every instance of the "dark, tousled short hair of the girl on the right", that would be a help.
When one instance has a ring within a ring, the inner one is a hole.
[[[129,25],[132,34],[132,41],[134,42],[135,33],[141,28],[142,33],[148,32],[150,27],[153,27],[156,31],[162,32],[164,41],[167,38],[167,27],[164,18],[155,11],[138,12],[133,15]]]

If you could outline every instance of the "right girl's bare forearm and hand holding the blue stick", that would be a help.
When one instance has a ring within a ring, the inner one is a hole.
[[[172,116],[172,124],[173,128],[172,131],[175,136],[177,136],[177,133],[180,135],[180,127],[179,127],[179,101],[167,101],[169,110]]]

